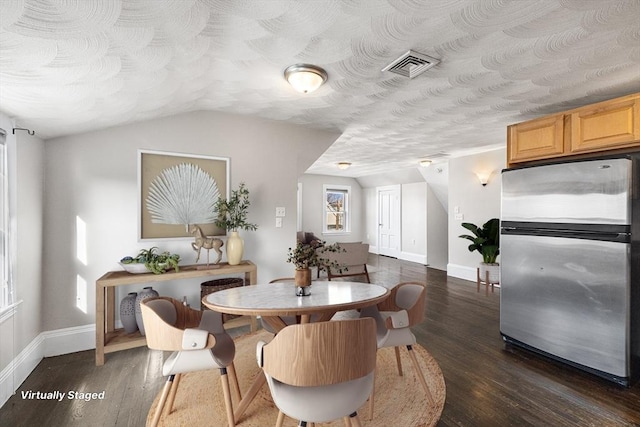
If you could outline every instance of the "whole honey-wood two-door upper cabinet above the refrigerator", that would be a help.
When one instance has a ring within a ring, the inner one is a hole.
[[[507,164],[640,150],[640,93],[507,127]]]

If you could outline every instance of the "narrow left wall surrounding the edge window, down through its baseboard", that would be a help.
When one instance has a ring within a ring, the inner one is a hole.
[[[37,136],[29,136],[24,131],[13,135],[14,126],[13,120],[0,114],[0,127],[7,131],[7,144],[11,150],[9,191],[16,253],[13,280],[15,299],[21,301],[10,311],[13,315],[1,316],[0,405],[41,358],[26,349],[40,334],[42,324],[44,145]]]

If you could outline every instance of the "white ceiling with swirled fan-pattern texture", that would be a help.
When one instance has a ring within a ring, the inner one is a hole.
[[[441,62],[381,71],[409,49]],[[299,62],[327,83],[293,91]],[[0,2],[0,110],[42,138],[225,111],[337,130],[309,172],[360,177],[638,91],[638,0]]]

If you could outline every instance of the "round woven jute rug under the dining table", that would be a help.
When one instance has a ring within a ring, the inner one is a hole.
[[[271,335],[265,331],[236,338],[236,357],[234,360],[238,381],[243,396],[249,389],[256,375],[261,373],[255,359],[255,348],[258,341],[268,342]],[[421,346],[415,345],[414,351],[420,367],[424,372],[429,390],[434,397],[435,405],[429,406],[420,381],[416,377],[413,364],[406,349],[401,349],[403,376],[398,375],[393,348],[378,351],[375,381],[375,411],[369,420],[369,403],[366,402],[358,411],[363,426],[434,426],[440,419],[446,397],[444,377],[438,363]],[[233,386],[232,386],[233,387]],[[232,392],[233,396],[233,392]],[[147,425],[151,423],[160,394],[151,405],[147,416]],[[238,404],[233,402],[234,409]],[[173,405],[173,411],[167,414],[166,408],[160,425],[173,426],[212,426],[227,425],[220,374],[217,369],[184,374]],[[268,427],[276,423],[278,409],[271,400],[269,387],[265,384],[246,412],[239,420],[238,427]],[[285,418],[284,426],[297,426],[297,420]],[[344,426],[342,420],[332,423],[316,424],[331,427]]]

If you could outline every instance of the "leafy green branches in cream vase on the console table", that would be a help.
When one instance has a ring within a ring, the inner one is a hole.
[[[257,230],[256,224],[247,220],[249,201],[249,189],[241,182],[237,190],[231,191],[231,197],[216,200],[214,209],[217,218],[215,225],[225,230],[231,231],[227,239],[227,262],[229,265],[238,265],[242,261],[244,253],[244,242],[238,235],[238,230]]]

